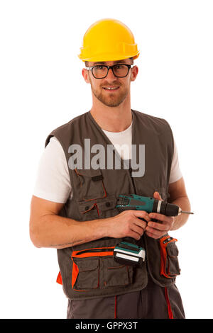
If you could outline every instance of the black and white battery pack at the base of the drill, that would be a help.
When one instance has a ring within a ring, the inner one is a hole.
[[[114,260],[128,266],[141,266],[145,261],[146,251],[143,247],[129,242],[120,242],[114,248]]]

